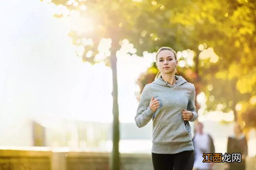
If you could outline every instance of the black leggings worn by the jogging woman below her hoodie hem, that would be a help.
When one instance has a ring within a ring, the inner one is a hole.
[[[152,153],[154,170],[192,170],[194,166],[194,150],[186,150],[176,154]]]

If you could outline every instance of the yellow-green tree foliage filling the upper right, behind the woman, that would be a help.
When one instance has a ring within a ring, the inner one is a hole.
[[[179,73],[192,75],[190,81],[206,94],[207,110],[233,111],[234,120],[238,120],[236,106],[242,101],[248,103],[256,95],[255,2],[162,3],[170,23],[156,32],[162,35],[159,39],[177,51],[195,52],[194,64]],[[170,37],[166,35],[174,28],[178,28],[172,37],[175,41],[168,42]]]

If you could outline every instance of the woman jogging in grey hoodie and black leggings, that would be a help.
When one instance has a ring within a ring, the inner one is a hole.
[[[195,87],[175,75],[178,60],[172,48],[158,50],[156,65],[160,72],[142,91],[136,125],[140,128],[153,121],[154,170],[192,170],[194,146],[189,121],[198,117],[194,106]]]

